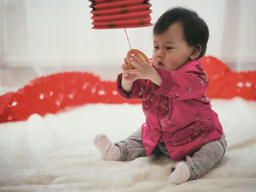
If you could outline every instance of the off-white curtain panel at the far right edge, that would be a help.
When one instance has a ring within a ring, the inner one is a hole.
[[[256,69],[256,1],[226,0],[220,58],[236,71]]]

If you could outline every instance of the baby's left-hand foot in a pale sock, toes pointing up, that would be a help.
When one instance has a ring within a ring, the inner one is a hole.
[[[113,145],[104,134],[98,134],[94,138],[94,145],[102,153],[102,159],[109,161],[118,161],[120,159],[120,147]]]

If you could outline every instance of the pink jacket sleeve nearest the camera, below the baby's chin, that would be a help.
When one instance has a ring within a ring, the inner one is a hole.
[[[200,67],[200,66],[199,66]],[[205,96],[208,88],[208,77],[203,68],[190,67],[188,70],[167,71],[157,69],[162,83],[154,85],[154,93],[176,99],[197,99]]]

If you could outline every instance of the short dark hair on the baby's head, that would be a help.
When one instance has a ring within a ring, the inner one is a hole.
[[[173,23],[181,23],[184,38],[189,46],[202,46],[202,51],[197,58],[202,58],[206,53],[209,37],[206,22],[199,18],[197,12],[183,7],[174,7],[167,10],[155,23],[154,34],[164,34]]]

